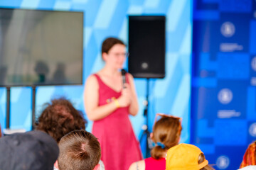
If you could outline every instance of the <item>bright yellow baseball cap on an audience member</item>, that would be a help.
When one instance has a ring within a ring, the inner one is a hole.
[[[171,147],[166,156],[166,170],[199,170],[208,165],[204,160],[198,164],[198,156],[203,153],[201,149],[190,144],[179,144]]]

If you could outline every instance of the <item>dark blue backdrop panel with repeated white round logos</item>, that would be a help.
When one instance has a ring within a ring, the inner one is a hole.
[[[193,2],[192,142],[238,169],[256,137],[256,2]]]

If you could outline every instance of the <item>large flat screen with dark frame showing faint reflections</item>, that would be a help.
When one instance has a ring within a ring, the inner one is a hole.
[[[0,86],[82,84],[83,13],[0,8]]]

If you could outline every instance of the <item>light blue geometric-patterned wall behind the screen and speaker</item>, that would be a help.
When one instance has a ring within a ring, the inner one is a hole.
[[[190,139],[191,98],[191,0],[1,0],[2,8],[33,8],[62,11],[84,11],[83,81],[102,66],[100,46],[107,36],[127,43],[127,16],[166,15],[166,77],[149,82],[149,130],[156,113],[169,113],[183,118],[181,142]],[[124,67],[127,67],[127,63]],[[139,113],[131,118],[134,131],[142,135],[143,101],[146,80],[135,79]],[[11,88],[11,128],[31,130],[31,88]],[[36,115],[43,103],[65,96],[85,113],[83,86],[43,86],[36,91]],[[0,89],[0,123],[6,126],[6,89]],[[86,116],[86,115],[85,115]],[[91,130],[92,123],[87,126]]]

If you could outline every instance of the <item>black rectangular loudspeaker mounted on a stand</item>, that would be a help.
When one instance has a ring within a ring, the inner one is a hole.
[[[165,77],[165,23],[165,16],[129,16],[128,69],[134,77]]]

